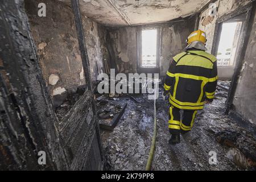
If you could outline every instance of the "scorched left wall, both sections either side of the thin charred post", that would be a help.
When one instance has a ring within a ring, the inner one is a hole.
[[[41,2],[46,3],[46,17],[37,15]],[[70,94],[76,93],[77,88],[86,85],[71,5],[49,0],[26,0],[25,5],[44,80],[55,105],[59,105]],[[95,86],[97,75],[102,72],[98,27],[103,27],[86,16],[82,16],[82,22],[92,84]]]

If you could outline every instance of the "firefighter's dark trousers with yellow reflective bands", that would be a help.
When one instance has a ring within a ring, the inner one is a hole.
[[[171,134],[184,134],[191,131],[195,121],[197,110],[183,110],[182,118],[180,117],[181,109],[170,106],[169,108],[169,131]]]

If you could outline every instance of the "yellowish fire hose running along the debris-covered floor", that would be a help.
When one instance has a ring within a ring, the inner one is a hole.
[[[146,166],[146,171],[150,171],[151,163],[154,157],[154,151],[155,151],[155,139],[156,139],[156,94],[154,98],[154,134],[152,137],[152,143],[151,143],[151,148],[150,148],[150,153],[147,159],[147,166]]]

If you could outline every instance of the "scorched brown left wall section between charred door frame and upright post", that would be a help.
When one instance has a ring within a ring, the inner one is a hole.
[[[46,17],[38,4],[46,3]],[[51,96],[85,85],[75,20],[71,7],[57,1],[25,1],[32,36]]]

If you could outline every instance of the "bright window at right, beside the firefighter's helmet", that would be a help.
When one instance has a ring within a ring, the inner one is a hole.
[[[242,22],[222,23],[217,51],[218,66],[232,67],[234,65],[241,29]]]

